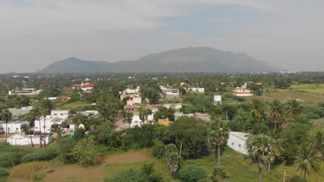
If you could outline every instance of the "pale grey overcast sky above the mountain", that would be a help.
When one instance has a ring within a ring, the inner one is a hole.
[[[324,71],[323,0],[0,0],[0,72],[189,46]]]

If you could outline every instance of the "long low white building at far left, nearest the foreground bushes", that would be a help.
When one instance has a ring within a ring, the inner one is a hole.
[[[33,140],[33,144],[38,145],[39,143],[39,135],[32,135],[31,139]],[[44,136],[45,143],[52,143],[53,137],[51,134],[47,134]],[[42,143],[44,144],[44,139]],[[7,142],[11,145],[31,145],[30,136],[25,134],[14,134],[8,137]]]

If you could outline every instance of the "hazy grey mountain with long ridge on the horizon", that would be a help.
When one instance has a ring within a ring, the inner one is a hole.
[[[82,61],[76,58],[56,61],[40,72],[278,72],[263,61],[245,53],[207,47],[181,48],[148,54],[135,61]]]

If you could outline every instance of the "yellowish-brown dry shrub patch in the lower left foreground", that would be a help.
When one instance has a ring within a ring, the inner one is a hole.
[[[42,168],[47,168],[47,162],[31,162],[16,165],[10,171],[10,176],[21,179],[30,179]]]

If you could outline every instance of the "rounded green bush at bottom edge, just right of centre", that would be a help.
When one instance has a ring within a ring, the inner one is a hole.
[[[179,179],[184,182],[197,182],[199,179],[206,178],[206,176],[207,172],[197,165],[188,165],[179,171]]]

